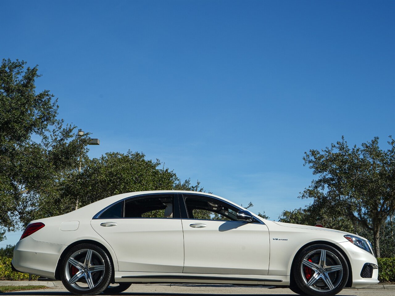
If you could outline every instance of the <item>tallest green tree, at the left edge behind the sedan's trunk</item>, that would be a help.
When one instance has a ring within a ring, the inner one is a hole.
[[[34,218],[40,195],[77,167],[88,141],[57,118],[53,94],[36,92],[38,66],[25,64],[3,59],[0,67],[0,228],[9,231]]]

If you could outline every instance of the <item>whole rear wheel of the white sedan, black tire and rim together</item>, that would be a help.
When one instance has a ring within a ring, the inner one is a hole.
[[[60,266],[64,287],[75,295],[98,295],[109,286],[113,267],[107,253],[94,244],[71,248]]]

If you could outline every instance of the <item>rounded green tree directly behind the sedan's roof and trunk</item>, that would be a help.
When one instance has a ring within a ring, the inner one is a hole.
[[[181,182],[175,172],[159,159],[145,159],[139,152],[109,152],[100,158],[83,161],[81,173],[67,172],[61,180],[53,180],[54,190],[41,194],[36,217],[51,217],[71,212],[78,199],[80,206],[126,192],[147,190],[203,191],[198,182]]]

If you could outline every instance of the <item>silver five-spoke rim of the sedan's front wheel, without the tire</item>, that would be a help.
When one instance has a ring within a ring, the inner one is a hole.
[[[335,254],[318,249],[303,258],[300,272],[310,289],[327,292],[335,289],[342,281],[343,266]]]

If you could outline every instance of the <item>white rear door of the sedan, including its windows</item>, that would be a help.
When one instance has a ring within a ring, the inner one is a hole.
[[[113,248],[119,271],[182,272],[182,224],[173,194],[120,201],[91,225]]]

